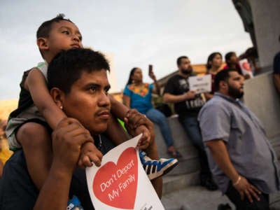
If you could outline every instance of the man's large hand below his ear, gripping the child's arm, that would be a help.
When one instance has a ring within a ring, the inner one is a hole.
[[[73,118],[64,118],[52,132],[52,166],[73,172],[76,169],[80,148],[93,139],[83,125]]]

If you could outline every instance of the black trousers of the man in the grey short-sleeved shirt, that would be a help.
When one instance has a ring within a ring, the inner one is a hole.
[[[255,200],[255,198],[253,198],[252,196],[253,203],[249,202],[246,195],[244,197],[244,200],[241,200],[238,191],[232,186],[232,183],[230,182],[228,185],[228,190],[225,193],[225,195],[227,195],[230,201],[235,204],[237,210],[269,210],[268,194],[262,193],[258,195],[258,197],[260,197],[259,201]]]

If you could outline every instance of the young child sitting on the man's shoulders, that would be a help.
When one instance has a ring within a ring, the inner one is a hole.
[[[43,22],[37,31],[37,45],[45,62],[38,64],[36,68],[24,73],[22,82],[20,83],[21,92],[18,109],[10,113],[6,134],[12,150],[22,147],[25,152],[29,174],[31,174],[31,178],[37,188],[40,189],[48,174],[51,162],[50,154],[52,153],[50,132],[43,125],[48,124],[50,125],[50,130],[55,129],[59,122],[63,118],[66,118],[63,107],[58,109],[48,92],[46,81],[48,63],[61,50],[83,48],[83,45],[82,36],[78,27],[71,20],[64,19],[64,15],[58,15],[57,18]],[[113,97],[111,97],[111,103],[113,114],[124,120],[128,109],[123,104],[116,102],[116,100],[114,101]],[[130,116],[128,120],[130,119],[136,118],[131,118]],[[126,140],[118,138],[125,137],[124,130],[116,128],[118,125],[120,127],[120,124],[114,123],[116,122],[115,118],[112,118],[111,121],[111,131],[108,133],[109,135],[114,134],[113,141],[116,141],[116,144],[120,144],[121,141]],[[134,124],[137,121],[130,121],[130,123]],[[143,132],[143,125],[137,127],[135,131],[136,134],[137,132]],[[146,139],[144,138],[140,142],[140,148],[145,149],[150,143],[150,139],[147,137],[146,135]],[[87,138],[92,137],[88,134]],[[151,174],[157,176],[165,174],[165,172],[172,169],[178,163],[173,158],[155,161],[149,160],[144,155],[141,159],[143,160],[144,167],[145,165],[156,167],[155,172],[151,170]],[[90,167],[92,166],[92,162],[99,166],[101,160],[102,153],[100,153],[94,144],[87,143],[83,146],[83,154],[79,161],[81,167]],[[152,178],[157,176],[153,176]]]

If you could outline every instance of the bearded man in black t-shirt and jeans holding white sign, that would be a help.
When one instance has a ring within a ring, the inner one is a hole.
[[[179,73],[167,81],[163,99],[165,102],[174,103],[175,111],[179,114],[179,122],[183,125],[184,130],[186,130],[190,141],[199,151],[201,185],[205,186],[208,190],[217,190],[217,186],[211,178],[200,125],[197,121],[198,113],[205,100],[202,98],[202,94],[196,94],[195,91],[189,88],[188,78],[193,76],[193,67],[190,64],[190,59],[186,56],[179,57],[177,59],[177,66]]]

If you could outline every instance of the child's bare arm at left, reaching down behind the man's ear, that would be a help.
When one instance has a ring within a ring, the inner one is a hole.
[[[57,123],[66,118],[66,115],[50,97],[43,73],[38,69],[32,69],[25,80],[24,86],[25,89],[29,90],[38,111],[43,115],[52,130],[54,130]]]

